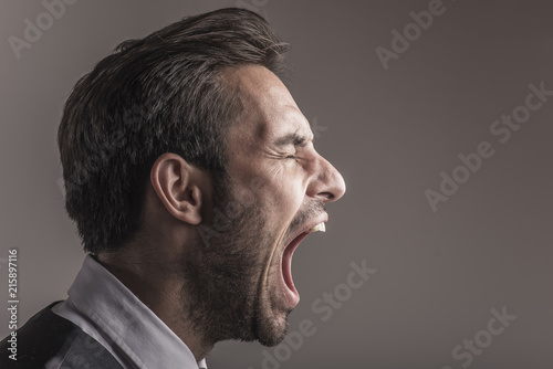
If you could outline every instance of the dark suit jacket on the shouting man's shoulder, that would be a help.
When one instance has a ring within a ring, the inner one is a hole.
[[[17,361],[8,357],[11,355],[8,350],[11,336],[0,342],[0,368],[123,369],[98,341],[72,321],[52,313],[50,308],[58,303],[36,313],[17,330]],[[54,357],[61,358],[61,365],[45,367]]]

